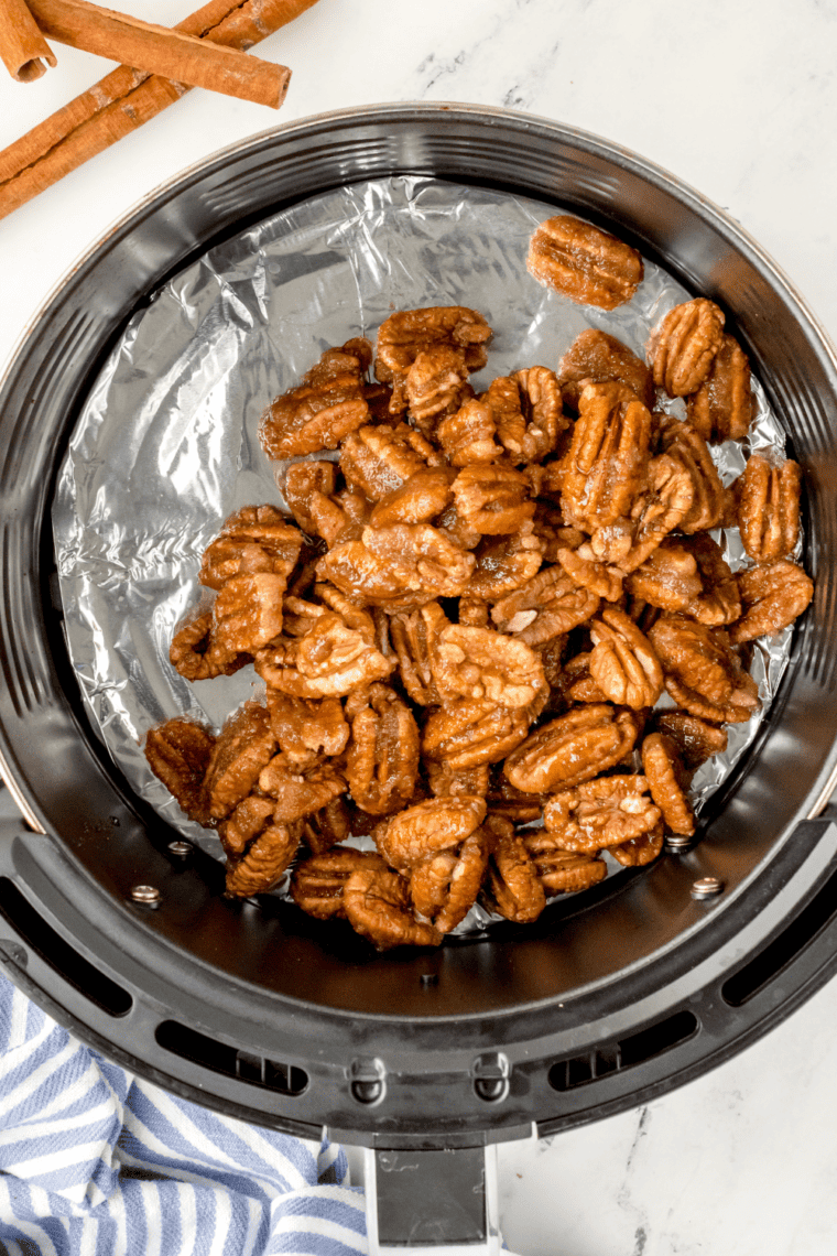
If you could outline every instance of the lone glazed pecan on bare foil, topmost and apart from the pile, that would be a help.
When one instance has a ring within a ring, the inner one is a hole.
[[[616,309],[642,281],[642,259],[624,240],[591,222],[557,215],[542,222],[530,241],[526,265],[540,283],[571,301]]]

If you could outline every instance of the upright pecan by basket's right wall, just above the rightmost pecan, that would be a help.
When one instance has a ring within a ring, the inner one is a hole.
[[[742,544],[755,563],[787,558],[799,539],[802,470],[797,462],[772,466],[750,455],[734,485]]]

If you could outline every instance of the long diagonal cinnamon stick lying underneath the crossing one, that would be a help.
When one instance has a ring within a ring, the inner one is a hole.
[[[316,0],[210,0],[176,30],[246,51]],[[0,152],[0,219],[154,118],[188,92],[120,65]]]

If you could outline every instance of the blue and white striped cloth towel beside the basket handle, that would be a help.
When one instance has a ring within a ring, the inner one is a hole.
[[[358,1256],[363,1192],[290,1138],[125,1073],[0,973],[0,1252]]]

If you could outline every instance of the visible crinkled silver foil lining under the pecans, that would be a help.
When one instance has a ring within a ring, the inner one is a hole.
[[[276,467],[259,443],[262,411],[325,348],[355,335],[374,340],[394,310],[424,305],[468,305],[488,319],[494,334],[488,367],[472,377],[477,391],[523,365],[555,368],[591,325],[642,357],[661,315],[698,294],[646,260],[629,305],[612,313],[573,305],[526,270],[530,236],[555,212],[504,192],[408,176],[311,197],[210,250],[161,288],[87,398],[53,509],[73,666],[93,722],[137,794],[218,858],[217,838],[184,818],[142,746],[164,720],[188,715],[220,728],[264,693],[252,667],[189,683],[168,662],[176,624],[207,597],[197,573],[222,521],[243,505],[284,506]],[[758,412],[745,445],[713,451],[725,484],[743,470],[748,448],[777,456],[784,448],[757,381],[754,391]],[[665,408],[684,413],[679,401]],[[739,566],[737,533],[727,548]],[[786,631],[754,649],[762,717],[789,637]],[[727,752],[695,776],[698,808],[758,722],[729,726]],[[487,918],[476,909],[461,928]]]

